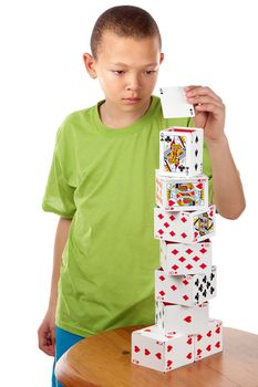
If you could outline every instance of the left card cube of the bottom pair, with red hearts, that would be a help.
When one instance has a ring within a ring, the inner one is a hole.
[[[183,334],[165,336],[155,325],[132,333],[132,362],[168,372],[194,362],[194,338]]]

